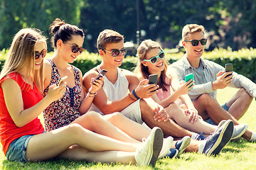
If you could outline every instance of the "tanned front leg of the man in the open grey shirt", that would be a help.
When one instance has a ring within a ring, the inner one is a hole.
[[[236,120],[233,115],[230,115],[227,111],[225,111],[209,94],[202,94],[195,100],[193,100],[193,105],[196,110],[198,110],[199,115],[202,116],[203,119],[210,118],[213,122],[218,125],[221,120],[233,120],[235,125],[239,125],[238,120]],[[250,140],[252,137],[252,131],[246,130],[244,135],[242,135],[246,140]]]

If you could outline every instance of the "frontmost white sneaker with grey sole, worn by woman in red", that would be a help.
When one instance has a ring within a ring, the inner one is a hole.
[[[142,145],[136,149],[135,161],[138,166],[156,164],[157,158],[163,146],[163,132],[160,128],[154,127],[149,137],[142,142]]]

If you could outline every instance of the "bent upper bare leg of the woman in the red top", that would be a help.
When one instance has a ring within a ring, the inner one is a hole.
[[[79,145],[92,152],[110,150],[134,152],[138,146],[96,134],[82,128],[81,125],[73,124],[31,137],[28,142],[26,159],[30,161],[50,159],[72,145]]]

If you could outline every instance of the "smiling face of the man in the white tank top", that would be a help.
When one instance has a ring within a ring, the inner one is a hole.
[[[114,49],[121,50],[124,48],[124,41],[120,41],[117,43],[108,43],[105,47],[105,50],[99,50],[100,56],[103,58],[103,62],[112,65],[113,67],[119,67],[122,65],[122,61],[124,60],[124,55],[119,53],[117,57],[112,57],[111,51]]]

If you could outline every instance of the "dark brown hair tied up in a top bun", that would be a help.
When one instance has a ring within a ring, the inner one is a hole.
[[[81,35],[83,38],[85,34],[77,26],[65,23],[65,21],[56,18],[52,24],[50,24],[49,32],[53,37],[51,38],[52,46],[55,48],[57,41],[62,40],[66,42],[71,39],[72,35]]]

